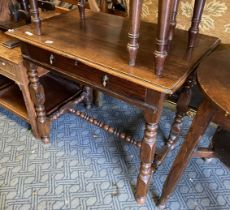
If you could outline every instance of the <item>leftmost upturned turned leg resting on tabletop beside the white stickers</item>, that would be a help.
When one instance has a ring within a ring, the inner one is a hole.
[[[30,13],[32,15],[32,21],[35,24],[35,33],[41,35],[41,19],[39,17],[38,2],[37,0],[30,0]]]

